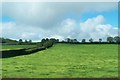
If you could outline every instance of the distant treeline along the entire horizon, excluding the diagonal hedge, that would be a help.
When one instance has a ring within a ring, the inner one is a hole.
[[[81,43],[81,44],[106,44],[106,43],[120,43],[120,37],[119,36],[115,36],[115,37],[107,37],[106,41],[102,41],[102,38],[99,38],[98,41],[94,41],[93,38],[89,39],[89,42],[86,42],[86,39],[82,39],[81,41],[78,41],[77,39],[70,39],[70,38],[66,38],[65,40],[59,41],[59,39],[55,39],[55,38],[44,38],[42,39],[40,42],[32,42],[32,40],[22,40],[19,39],[19,41],[17,40],[12,40],[12,39],[6,39],[6,38],[0,38],[0,43],[3,44],[18,44],[18,45],[27,45],[27,44],[37,44],[39,46],[46,46],[48,44],[54,44],[54,43]]]

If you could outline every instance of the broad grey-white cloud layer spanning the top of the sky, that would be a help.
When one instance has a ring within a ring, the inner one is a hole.
[[[52,28],[64,20],[69,13],[81,14],[89,11],[109,11],[117,3],[104,2],[6,2],[2,4],[2,16],[10,16],[16,24]]]

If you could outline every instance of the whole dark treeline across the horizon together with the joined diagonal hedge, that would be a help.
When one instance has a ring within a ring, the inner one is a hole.
[[[102,39],[99,39],[98,42],[94,42],[92,38],[89,39],[89,42],[86,42],[85,39],[82,39],[81,42],[77,41],[77,39],[70,39],[67,38],[64,41],[59,41],[59,39],[55,38],[46,38],[42,39],[40,42],[33,43],[32,40],[25,40],[23,42],[22,39],[19,39],[19,41],[11,40],[11,39],[4,39],[0,38],[2,44],[18,44],[18,45],[27,45],[27,44],[35,44],[36,47],[28,48],[28,49],[20,49],[20,50],[4,50],[2,51],[2,58],[9,58],[14,56],[20,56],[20,55],[27,55],[32,54],[37,51],[45,50],[47,48],[52,47],[56,43],[67,43],[67,44],[119,44],[120,43],[120,37],[107,37],[107,41],[103,42]]]

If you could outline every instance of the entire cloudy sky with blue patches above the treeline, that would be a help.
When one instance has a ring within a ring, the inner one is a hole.
[[[4,2],[0,7],[5,38],[80,41],[118,35],[117,2]]]

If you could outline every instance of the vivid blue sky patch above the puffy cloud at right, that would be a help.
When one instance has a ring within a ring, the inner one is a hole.
[[[105,11],[105,12],[89,12],[82,15],[82,21],[85,21],[88,18],[95,17],[97,15],[103,15],[105,17],[105,21],[108,24],[113,25],[114,27],[118,27],[118,9],[111,10],[111,11]]]

